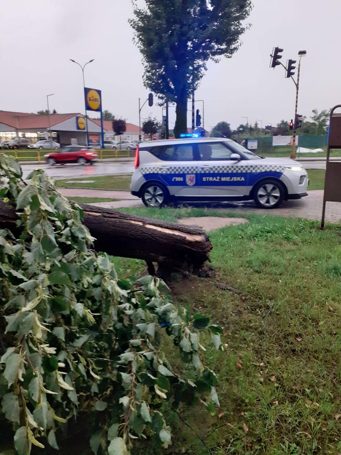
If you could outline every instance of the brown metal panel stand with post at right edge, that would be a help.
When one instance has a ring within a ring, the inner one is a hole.
[[[323,193],[321,229],[325,228],[326,201],[341,202],[341,162],[329,161],[331,149],[341,148],[341,114],[334,114],[334,111],[338,107],[341,107],[341,104],[338,104],[331,109],[331,116],[329,120],[326,178]]]

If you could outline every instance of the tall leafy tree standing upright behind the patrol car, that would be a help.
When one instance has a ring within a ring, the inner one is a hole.
[[[206,62],[231,57],[249,25],[251,0],[133,0],[130,25],[144,58],[144,84],[160,100],[176,103],[174,135],[187,132],[187,100]]]

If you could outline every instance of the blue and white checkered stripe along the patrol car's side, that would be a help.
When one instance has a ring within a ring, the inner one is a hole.
[[[278,166],[276,164],[250,164],[250,165],[230,165],[230,166],[170,166],[170,167],[159,167],[159,166],[145,166],[140,167],[142,175],[146,174],[194,174],[194,173],[205,173],[205,174],[243,174],[243,173],[256,173],[256,172],[284,172],[284,166]]]

